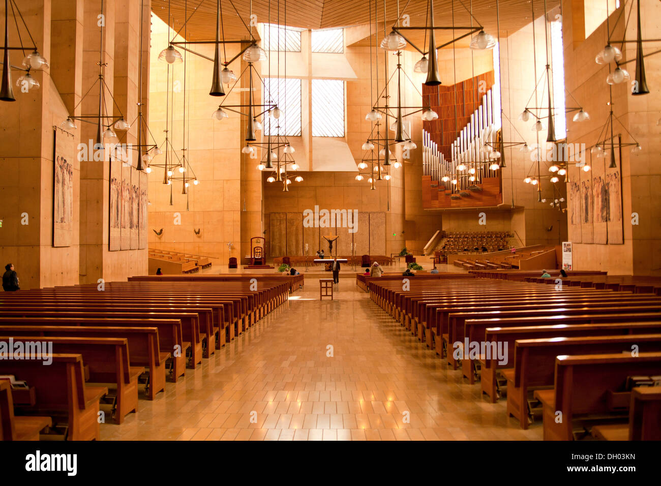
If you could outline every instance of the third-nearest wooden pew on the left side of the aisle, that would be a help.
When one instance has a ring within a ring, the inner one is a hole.
[[[0,341],[8,341],[11,338],[14,343],[27,341],[47,345],[52,343],[52,350],[56,354],[81,354],[89,372],[87,381],[93,384],[112,384],[116,389],[114,422],[121,424],[128,413],[137,412],[137,378],[143,373],[144,368],[130,366],[126,338],[39,338],[6,334],[0,335]]]

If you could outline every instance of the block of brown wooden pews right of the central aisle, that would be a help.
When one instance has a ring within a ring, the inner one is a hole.
[[[521,428],[541,412],[547,440],[661,439],[659,296],[443,274],[367,286]]]

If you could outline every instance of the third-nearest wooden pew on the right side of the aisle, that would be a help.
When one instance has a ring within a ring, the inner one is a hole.
[[[630,329],[633,330],[633,327],[630,327]],[[610,330],[598,329],[595,332],[603,333],[615,330],[616,328],[611,328]],[[623,328],[617,329],[617,331],[622,330]],[[631,346],[633,345],[639,346],[641,352],[661,352],[661,333],[584,335],[517,340],[512,354],[510,354],[513,358],[514,368],[501,368],[500,370],[508,380],[508,415],[512,415],[518,419],[522,428],[527,428],[529,417],[527,407],[528,391],[529,389],[553,386],[556,356],[578,353],[612,354],[616,352],[628,352],[631,354]],[[492,373],[494,371],[495,367],[492,363],[489,372]]]

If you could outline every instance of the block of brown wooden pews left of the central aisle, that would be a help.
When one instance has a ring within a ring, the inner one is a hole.
[[[5,440],[93,440],[288,300],[297,276],[145,276],[0,294]],[[9,347],[8,347],[9,346]],[[46,361],[48,364],[46,364]]]

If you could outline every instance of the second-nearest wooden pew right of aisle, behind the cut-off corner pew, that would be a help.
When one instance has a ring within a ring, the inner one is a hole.
[[[535,391],[543,405],[544,439],[572,440],[574,421],[627,410],[631,402],[631,391],[624,389],[627,377],[658,374],[661,352],[557,356],[554,389]]]

